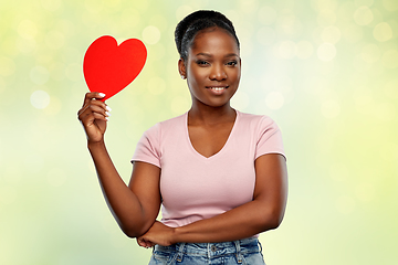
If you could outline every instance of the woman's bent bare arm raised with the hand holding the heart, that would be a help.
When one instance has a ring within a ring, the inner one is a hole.
[[[93,100],[96,98],[102,96],[98,93],[86,94],[78,119],[86,131],[87,147],[111,212],[127,236],[139,236],[153,225],[159,211],[160,169],[149,163],[136,162],[130,184],[125,184],[104,142],[108,108],[105,103]]]

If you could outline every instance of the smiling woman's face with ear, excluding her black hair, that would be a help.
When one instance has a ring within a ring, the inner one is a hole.
[[[179,61],[179,71],[187,77],[193,106],[229,106],[241,74],[235,40],[219,28],[199,32],[188,50],[187,62]]]

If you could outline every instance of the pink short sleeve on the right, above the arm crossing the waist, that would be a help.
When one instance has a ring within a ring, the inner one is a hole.
[[[276,123],[268,116],[263,116],[259,123],[254,159],[265,153],[281,153],[286,158],[281,129]]]

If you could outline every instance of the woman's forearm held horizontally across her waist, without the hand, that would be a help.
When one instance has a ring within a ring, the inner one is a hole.
[[[206,243],[235,241],[279,226],[280,210],[251,201],[211,219],[175,229],[172,242]]]

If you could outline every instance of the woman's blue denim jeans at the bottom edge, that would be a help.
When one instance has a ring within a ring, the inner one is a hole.
[[[149,265],[265,265],[261,251],[256,237],[222,243],[156,245]]]

